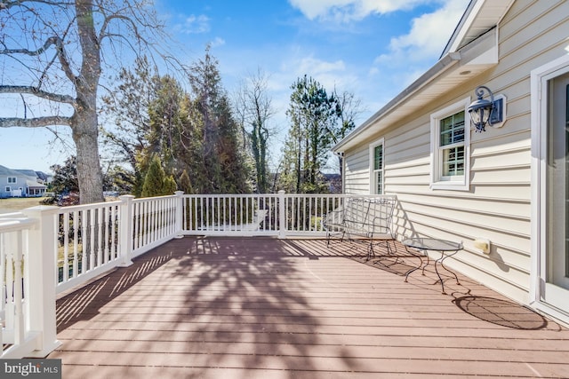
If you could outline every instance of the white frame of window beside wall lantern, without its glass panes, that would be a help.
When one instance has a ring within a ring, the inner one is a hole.
[[[470,97],[462,99],[430,115],[430,189],[469,191],[470,189]],[[446,117],[464,111],[464,140],[446,146],[446,149],[464,146],[464,174],[445,177],[443,175],[443,152],[440,145],[440,122]]]

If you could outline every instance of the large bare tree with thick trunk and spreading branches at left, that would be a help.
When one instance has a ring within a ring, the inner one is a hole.
[[[144,0],[0,0],[0,94],[23,112],[0,127],[68,126],[76,145],[81,203],[103,201],[98,145],[100,76],[163,39]],[[156,51],[156,50],[155,50]]]

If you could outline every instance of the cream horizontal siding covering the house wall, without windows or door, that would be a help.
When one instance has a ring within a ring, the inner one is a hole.
[[[530,71],[567,54],[569,2],[516,1],[499,27],[499,63],[437,104],[369,138],[385,138],[385,190],[396,193],[397,236],[463,241],[448,265],[528,303],[531,268]],[[477,85],[506,96],[503,127],[471,131],[470,190],[432,190],[430,114],[474,96]],[[346,193],[369,193],[367,145],[345,152]],[[492,241],[492,254],[473,247]],[[445,264],[447,262],[445,261]]]

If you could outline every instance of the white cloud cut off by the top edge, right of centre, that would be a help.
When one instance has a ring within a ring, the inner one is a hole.
[[[309,20],[362,20],[373,13],[389,13],[410,9],[432,0],[289,0]]]

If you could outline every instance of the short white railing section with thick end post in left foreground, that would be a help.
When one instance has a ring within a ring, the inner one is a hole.
[[[52,280],[56,265],[52,248],[42,245],[53,239],[53,225],[49,210],[0,216],[2,359],[44,357],[60,345]]]

